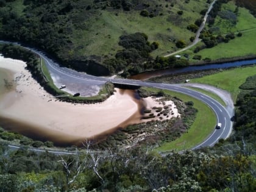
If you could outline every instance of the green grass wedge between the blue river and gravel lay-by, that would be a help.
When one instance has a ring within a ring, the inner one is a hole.
[[[239,86],[242,85],[246,78],[256,74],[256,66],[240,67],[222,71],[221,73],[212,74],[210,76],[191,79],[191,83],[208,84],[214,87],[222,88],[229,91],[233,101],[236,101],[240,93]]]

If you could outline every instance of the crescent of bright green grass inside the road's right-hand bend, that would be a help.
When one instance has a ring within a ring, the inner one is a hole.
[[[183,135],[177,140],[165,143],[156,150],[164,152],[171,151],[172,149],[176,149],[177,151],[191,149],[204,141],[205,138],[207,138],[208,135],[213,132],[216,124],[215,113],[210,107],[208,107],[208,105],[197,99],[191,98],[190,96],[173,91],[166,91],[166,93],[182,99],[183,102],[193,101],[194,108],[197,108],[198,112],[196,114],[196,119],[193,125],[190,127],[187,133],[183,133]]]

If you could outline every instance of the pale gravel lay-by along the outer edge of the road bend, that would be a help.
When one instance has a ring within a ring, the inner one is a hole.
[[[202,88],[217,94],[226,103],[226,109],[230,116],[234,115],[234,103],[229,92],[206,84],[186,84],[186,86]]]

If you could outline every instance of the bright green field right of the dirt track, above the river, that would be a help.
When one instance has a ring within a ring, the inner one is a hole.
[[[222,5],[222,10],[235,10],[235,4],[230,1],[227,4]],[[194,55],[202,55],[202,59],[210,58],[212,60],[222,58],[240,57],[246,55],[256,55],[256,18],[249,13],[249,10],[239,8],[237,23],[231,24],[230,21],[216,17],[215,27],[219,28],[217,34],[226,34],[227,32],[242,32],[242,37],[236,37],[234,40],[230,40],[229,43],[219,43],[217,46],[210,49],[203,49],[202,51],[194,54],[194,48],[200,46],[203,43],[199,43],[191,49],[182,52],[182,54],[190,55],[190,62],[198,62],[193,60]]]

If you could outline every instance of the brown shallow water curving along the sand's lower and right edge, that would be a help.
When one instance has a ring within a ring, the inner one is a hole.
[[[125,94],[129,94],[131,97],[136,94],[135,90],[123,90]],[[1,94],[0,94],[1,95]],[[118,126],[112,127],[104,132],[94,135],[93,137],[85,138],[78,137],[77,135],[69,135],[62,131],[47,129],[45,126],[39,126],[38,124],[33,124],[27,122],[26,119],[15,119],[8,116],[1,115],[0,113],[0,126],[5,130],[11,132],[17,132],[26,137],[32,138],[33,140],[40,141],[52,141],[55,146],[68,147],[68,146],[82,146],[85,140],[103,140],[108,135],[111,135],[118,129],[125,129],[125,127],[130,124],[140,123],[142,108],[144,108],[141,99],[134,98],[137,102],[138,110],[133,113],[132,116],[127,118],[125,121],[118,124]],[[47,119],[45,119],[47,121]],[[72,129],[72,128],[71,128]]]

